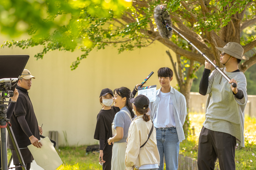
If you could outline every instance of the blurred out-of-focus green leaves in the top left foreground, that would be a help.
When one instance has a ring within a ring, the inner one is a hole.
[[[66,24],[67,21],[61,19],[66,14],[78,19],[86,8],[90,15],[109,17],[111,10],[115,15],[121,16],[122,11],[131,5],[131,2],[125,0],[1,0],[0,28],[1,33],[13,37],[28,32],[30,35],[45,36],[52,29]]]

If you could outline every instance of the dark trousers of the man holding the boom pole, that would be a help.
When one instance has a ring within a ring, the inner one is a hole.
[[[214,170],[219,158],[221,170],[236,170],[236,138],[230,134],[202,128],[199,136],[198,170]]]

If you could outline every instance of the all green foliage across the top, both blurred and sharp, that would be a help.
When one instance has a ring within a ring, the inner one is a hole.
[[[1,33],[20,35],[29,33],[31,38],[23,41],[7,41],[1,47],[18,46],[22,49],[42,45],[44,48],[35,57],[43,58],[52,50],[83,52],[72,63],[72,70],[93,50],[106,46],[116,47],[119,53],[148,47],[158,40],[154,21],[154,8],[163,1],[149,0],[1,0]],[[174,25],[186,33],[196,33],[197,43],[212,46],[207,36],[214,31],[219,35],[221,25],[231,20],[233,13],[241,12],[250,0],[206,1],[203,10],[200,1],[170,0],[167,10]],[[18,12],[17,12],[18,11]],[[255,6],[249,6],[246,18],[255,17]],[[249,41],[250,39],[246,39]],[[172,42],[183,50],[191,51],[187,41],[173,34]],[[210,45],[209,45],[210,44]],[[166,45],[170,48],[173,45]],[[176,47],[175,47],[176,48]],[[207,47],[206,47],[207,48]],[[188,56],[187,56],[188,57]],[[183,60],[184,70],[191,64]],[[195,66],[193,66],[195,67]]]

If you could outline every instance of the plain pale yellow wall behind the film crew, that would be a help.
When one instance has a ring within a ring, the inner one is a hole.
[[[0,37],[1,44],[4,40],[7,39]],[[119,55],[112,47],[95,50],[74,71],[69,66],[82,52],[52,51],[44,59],[36,60],[34,55],[40,50],[41,47],[25,50],[3,48],[0,55],[30,55],[25,68],[35,76],[29,96],[38,124],[44,124],[44,136],[48,136],[49,131],[59,131],[59,145],[64,145],[63,131],[67,132],[69,145],[98,142],[93,136],[96,117],[101,109],[99,94],[103,88],[114,90],[125,86],[133,90],[151,71],[155,73],[146,85],[157,84],[159,88],[157,70],[160,67],[172,68],[165,53],[167,48],[160,43]],[[172,55],[175,56],[173,52]],[[176,79],[173,79],[171,85],[176,84]]]

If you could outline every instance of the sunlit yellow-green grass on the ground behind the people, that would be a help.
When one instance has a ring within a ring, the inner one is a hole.
[[[198,138],[203,127],[205,114],[190,113],[191,130],[186,140],[180,143],[180,154],[197,159]],[[256,119],[245,116],[245,147],[236,150],[237,170],[256,170]],[[238,147],[239,149],[239,147]],[[60,147],[57,151],[63,161],[57,170],[101,170],[98,163],[99,153],[86,154],[86,146]],[[218,163],[217,163],[218,165]],[[165,167],[164,167],[165,170]]]

